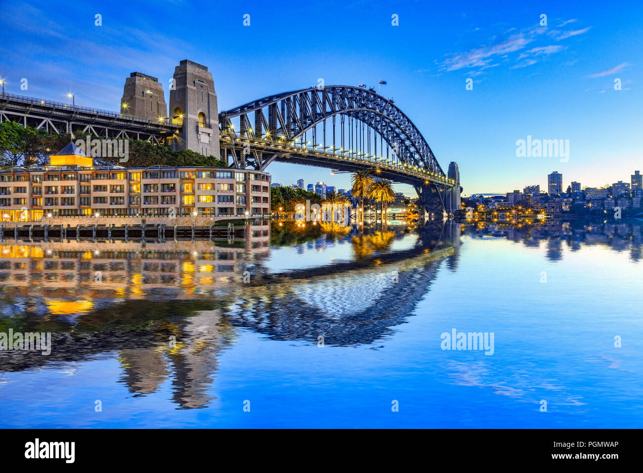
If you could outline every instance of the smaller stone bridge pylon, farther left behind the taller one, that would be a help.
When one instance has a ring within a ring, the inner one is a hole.
[[[159,80],[141,72],[132,72],[125,79],[121,115],[165,122],[167,104]]]

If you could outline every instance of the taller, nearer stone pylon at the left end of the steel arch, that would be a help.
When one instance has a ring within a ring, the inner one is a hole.
[[[206,66],[182,60],[174,68],[170,89],[170,123],[183,129],[175,149],[185,148],[221,158],[219,151],[219,109],[212,73]]]

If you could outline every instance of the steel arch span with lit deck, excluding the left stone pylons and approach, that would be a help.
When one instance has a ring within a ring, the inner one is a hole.
[[[457,175],[393,100],[373,89],[324,86],[271,95],[219,113],[221,155],[238,169],[271,162],[360,169],[413,185],[433,216],[460,209]],[[378,146],[379,142],[379,146]]]

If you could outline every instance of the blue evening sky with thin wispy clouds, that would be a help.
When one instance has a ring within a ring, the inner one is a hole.
[[[78,105],[118,111],[130,73],[158,77],[167,100],[183,59],[212,72],[220,111],[318,79],[376,89],[382,79],[381,94],[419,128],[442,169],[458,163],[463,196],[546,189],[552,171],[564,188],[643,171],[640,1],[0,0],[0,11],[10,93],[66,102],[71,92]],[[566,153],[521,156],[517,143],[528,136],[563,140]],[[349,174],[330,169],[267,170],[285,185],[349,187]]]

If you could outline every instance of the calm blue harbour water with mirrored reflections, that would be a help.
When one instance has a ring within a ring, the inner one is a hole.
[[[53,346],[0,351],[0,427],[643,424],[640,221],[258,224],[4,241],[0,332]]]

